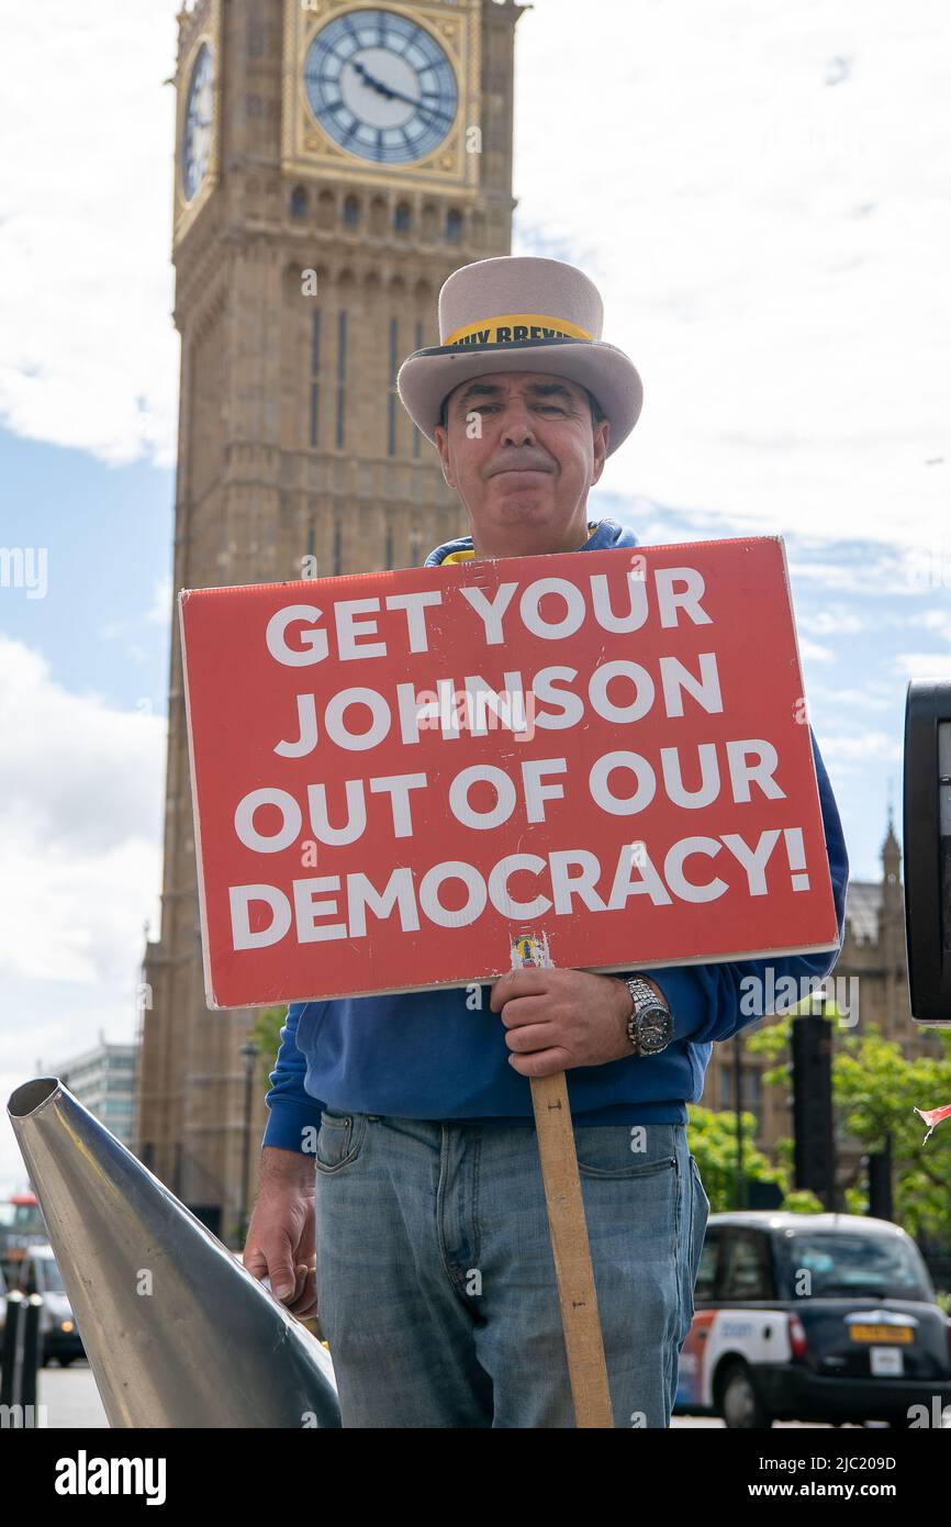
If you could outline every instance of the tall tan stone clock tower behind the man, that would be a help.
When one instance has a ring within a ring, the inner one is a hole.
[[[195,0],[179,14],[180,588],[418,565],[469,530],[395,389],[458,266],[511,247],[514,0]],[[230,1237],[255,1009],[205,1005],[177,605],[162,930],[137,1147]],[[273,1057],[267,1057],[273,1061]],[[253,1182],[252,1182],[253,1191]]]

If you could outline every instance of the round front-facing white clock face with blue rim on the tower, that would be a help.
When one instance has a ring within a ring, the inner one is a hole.
[[[441,46],[394,11],[348,11],[328,21],[307,49],[304,89],[334,144],[386,165],[438,148],[459,99]]]

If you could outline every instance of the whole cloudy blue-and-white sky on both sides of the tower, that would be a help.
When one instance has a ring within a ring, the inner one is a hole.
[[[0,1092],[134,1032],[162,852],[176,0],[0,0]],[[779,533],[855,878],[913,676],[951,676],[943,0],[536,0],[513,252],[644,379],[592,498],[641,544]],[[0,1190],[20,1180],[0,1128]]]

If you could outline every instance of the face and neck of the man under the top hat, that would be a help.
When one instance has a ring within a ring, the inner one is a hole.
[[[476,556],[574,550],[608,452],[588,394],[542,371],[493,371],[449,394],[435,438],[443,476],[472,519]]]

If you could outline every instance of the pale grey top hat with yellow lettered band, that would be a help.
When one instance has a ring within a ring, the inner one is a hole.
[[[638,421],[644,388],[633,362],[601,339],[601,295],[583,270],[537,255],[461,266],[440,292],[440,344],[397,374],[406,412],[435,441],[443,399],[492,371],[543,371],[592,392],[611,421],[608,455]]]

